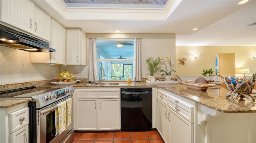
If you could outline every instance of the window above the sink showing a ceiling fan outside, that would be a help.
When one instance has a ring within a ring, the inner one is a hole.
[[[100,78],[105,80],[126,80],[134,77],[134,39],[110,40],[97,39],[96,63],[97,77],[100,67],[104,68]]]

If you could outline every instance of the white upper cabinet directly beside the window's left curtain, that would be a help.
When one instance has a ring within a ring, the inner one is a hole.
[[[66,29],[66,64],[86,65],[86,33],[82,29]]]

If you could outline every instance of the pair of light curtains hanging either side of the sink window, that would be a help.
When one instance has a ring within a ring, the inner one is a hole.
[[[97,65],[96,65],[96,44],[94,38],[88,38],[89,48],[89,81],[97,81]],[[142,38],[135,38],[134,42],[134,81],[141,81],[142,71]]]

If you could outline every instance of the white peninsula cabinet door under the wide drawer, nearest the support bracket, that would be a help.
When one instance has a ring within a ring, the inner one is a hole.
[[[186,119],[169,109],[169,142],[170,143],[193,143],[194,126]]]

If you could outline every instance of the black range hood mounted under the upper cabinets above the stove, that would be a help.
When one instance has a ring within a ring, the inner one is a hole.
[[[50,43],[1,24],[0,45],[28,52],[55,52]]]

